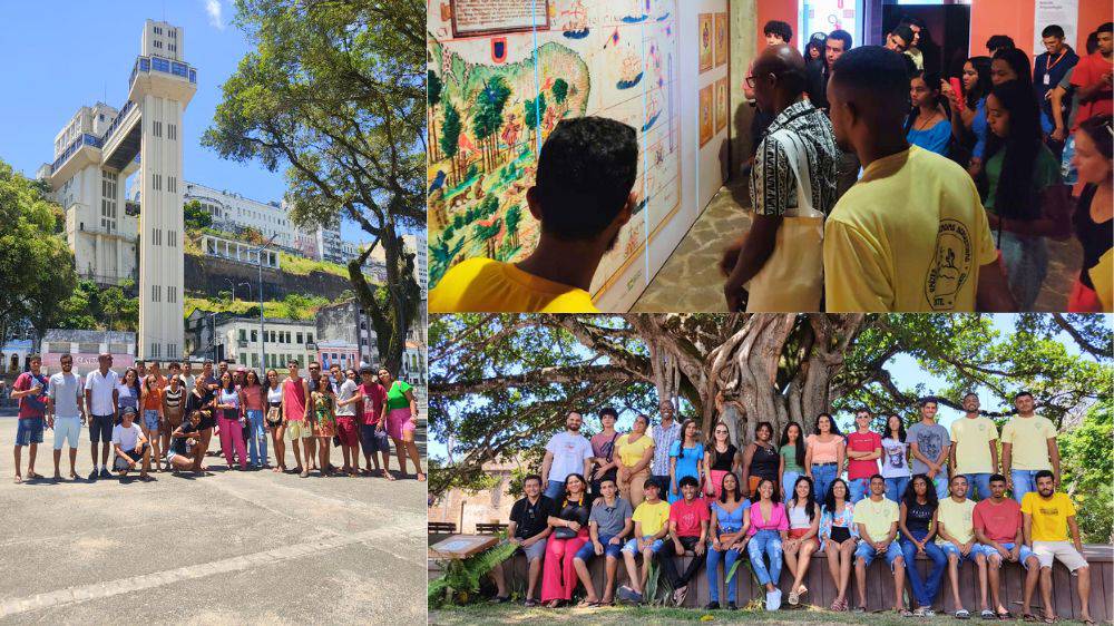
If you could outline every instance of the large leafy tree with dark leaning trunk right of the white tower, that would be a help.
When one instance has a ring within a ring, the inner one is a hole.
[[[398,370],[421,292],[401,235],[426,222],[426,8],[413,0],[237,0],[254,49],[223,86],[203,144],[222,157],[286,166],[291,219],[350,219],[372,244],[349,280]],[[387,287],[361,271],[382,245]]]

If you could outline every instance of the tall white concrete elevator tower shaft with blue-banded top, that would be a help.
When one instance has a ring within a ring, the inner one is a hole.
[[[184,43],[180,28],[147,20],[128,91],[140,118],[140,359],[177,359],[184,345],[182,114],[197,91]]]

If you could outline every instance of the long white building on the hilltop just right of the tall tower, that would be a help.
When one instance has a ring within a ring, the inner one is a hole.
[[[258,231],[265,239],[275,237],[274,245],[295,248],[295,228],[286,209],[277,202],[262,203],[226,190],[217,190],[199,183],[186,183],[185,202],[197,200],[213,216],[213,227],[233,234],[245,228]]]

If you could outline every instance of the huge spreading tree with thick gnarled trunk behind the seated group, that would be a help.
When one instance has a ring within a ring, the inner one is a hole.
[[[1064,316],[1065,331],[1024,315],[1012,329],[973,314],[434,316],[429,423],[451,448],[433,464],[429,489],[475,485],[483,463],[544,444],[569,410],[594,415],[606,405],[656,415],[668,404],[705,437],[723,421],[742,444],[759,421],[780,433],[790,421],[834,412],[849,426],[847,412],[864,405],[911,422],[919,398],[936,394],[958,410],[971,389],[994,399],[983,414],[1000,423],[1014,412],[1014,393],[1027,389],[1042,415],[1067,424],[1111,400],[1111,344],[1101,342],[1108,331],[1094,317]],[[1065,332],[1106,348],[1075,352]],[[895,381],[899,356],[939,382]]]

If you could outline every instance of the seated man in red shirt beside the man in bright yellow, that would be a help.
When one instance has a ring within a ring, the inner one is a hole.
[[[971,516],[975,525],[975,538],[978,544],[974,550],[986,557],[987,577],[990,579],[990,598],[1000,619],[1013,619],[1014,616],[1001,603],[999,595],[999,571],[1003,561],[1019,563],[1025,566],[1025,601],[1022,605],[1023,617],[1030,615],[1029,606],[1033,591],[1040,577],[1040,563],[1033,550],[1024,542],[1022,534],[1022,506],[1013,498],[1006,498],[1006,477],[996,473],[990,477],[990,497],[975,505]]]

